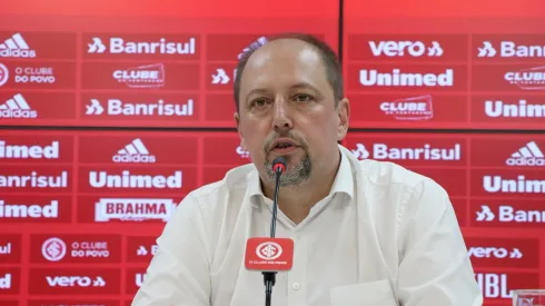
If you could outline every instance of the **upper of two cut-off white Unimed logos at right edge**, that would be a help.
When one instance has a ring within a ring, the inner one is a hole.
[[[518,100],[518,103],[487,100],[485,101],[485,112],[493,118],[545,118],[545,103],[527,105],[524,99]]]

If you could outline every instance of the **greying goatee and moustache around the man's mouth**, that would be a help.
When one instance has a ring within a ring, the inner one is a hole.
[[[305,182],[313,171],[313,164],[310,161],[310,156],[308,155],[308,146],[303,137],[299,137],[295,132],[290,131],[288,136],[290,139],[294,139],[297,144],[299,144],[301,149],[305,151],[305,156],[303,159],[297,162],[295,166],[287,166],[286,171],[280,176],[279,185],[297,187]],[[270,144],[278,138],[277,132],[272,132],[265,141],[265,156],[270,151]],[[265,158],[264,168],[266,171],[267,181],[275,184],[276,182],[276,172],[272,169],[272,164]]]

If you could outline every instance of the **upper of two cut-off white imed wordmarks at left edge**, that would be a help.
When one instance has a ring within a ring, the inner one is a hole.
[[[50,146],[23,146],[23,145],[7,145],[0,140],[0,159],[58,159],[59,158],[59,141],[52,141]]]

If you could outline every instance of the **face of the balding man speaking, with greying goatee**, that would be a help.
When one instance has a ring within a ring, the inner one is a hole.
[[[313,46],[283,39],[261,47],[242,72],[239,99],[235,119],[241,146],[261,178],[274,181],[271,162],[281,156],[287,170],[280,184],[297,186],[338,155],[348,103],[335,108],[326,67]]]

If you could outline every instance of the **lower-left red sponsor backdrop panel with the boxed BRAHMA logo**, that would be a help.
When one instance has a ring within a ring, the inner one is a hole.
[[[239,145],[236,132],[0,130],[0,304],[130,299],[184,197],[250,161]]]

